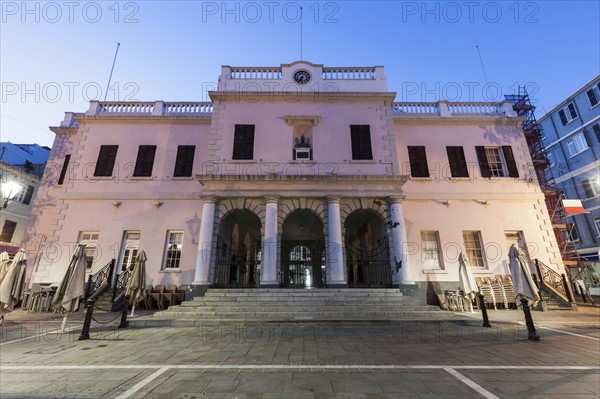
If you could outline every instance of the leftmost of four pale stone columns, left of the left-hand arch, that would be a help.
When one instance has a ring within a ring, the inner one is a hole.
[[[211,284],[209,281],[210,261],[212,258],[212,238],[215,224],[215,202],[213,196],[204,197],[202,220],[200,221],[200,237],[198,238],[198,255],[196,256],[196,274],[190,289],[192,296],[204,295]]]

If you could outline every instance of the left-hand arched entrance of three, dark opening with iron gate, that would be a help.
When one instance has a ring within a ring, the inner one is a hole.
[[[215,287],[259,285],[260,228],[258,216],[245,209],[235,210],[222,219],[217,237]]]

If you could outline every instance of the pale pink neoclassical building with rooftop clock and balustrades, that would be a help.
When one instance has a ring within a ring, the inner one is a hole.
[[[32,286],[77,242],[148,284],[401,287],[508,273],[519,245],[563,273],[509,102],[397,103],[383,67],[223,66],[211,102],[97,102],[56,133],[29,226]]]

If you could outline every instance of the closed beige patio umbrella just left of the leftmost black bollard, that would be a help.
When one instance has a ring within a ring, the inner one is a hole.
[[[79,299],[85,295],[85,252],[84,244],[77,244],[73,257],[63,277],[52,305],[60,309],[63,317],[62,331],[65,331],[67,315],[77,309]]]

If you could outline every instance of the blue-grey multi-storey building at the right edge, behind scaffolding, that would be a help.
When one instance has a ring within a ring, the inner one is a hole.
[[[568,239],[586,264],[592,293],[600,292],[600,76],[540,118],[548,178],[587,213],[568,216]],[[574,272],[577,274],[578,272]]]

